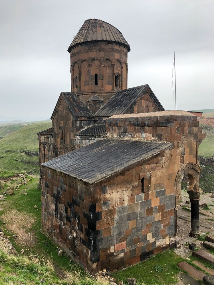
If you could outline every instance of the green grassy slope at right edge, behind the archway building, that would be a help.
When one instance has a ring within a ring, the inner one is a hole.
[[[214,156],[214,127],[206,126],[200,123],[203,132],[206,133],[206,139],[199,145],[199,155],[204,157]]]

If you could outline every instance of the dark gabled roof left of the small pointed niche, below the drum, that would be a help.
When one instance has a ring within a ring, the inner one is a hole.
[[[74,117],[94,116],[89,107],[86,104],[84,104],[75,93],[61,92],[59,99],[56,103],[56,106],[54,108],[53,114],[51,115],[51,120],[53,120],[62,99],[64,99],[64,102],[67,104],[69,111]]]

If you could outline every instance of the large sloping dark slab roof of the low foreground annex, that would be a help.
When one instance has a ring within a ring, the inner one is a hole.
[[[171,143],[105,139],[42,163],[79,180],[93,184],[140,161],[152,159]]]

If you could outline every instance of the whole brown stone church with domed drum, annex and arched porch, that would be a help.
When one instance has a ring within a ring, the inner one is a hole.
[[[38,133],[42,229],[91,272],[121,269],[177,245],[181,181],[199,231],[197,116],[165,111],[148,84],[127,89],[130,45],[84,22],[71,45],[71,92]]]

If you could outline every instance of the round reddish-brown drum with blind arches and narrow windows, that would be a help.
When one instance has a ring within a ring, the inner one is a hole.
[[[114,43],[87,43],[74,47],[70,52],[71,92],[85,104],[93,94],[107,102],[116,92],[127,88],[127,56],[127,48]],[[98,85],[95,74],[98,74]],[[118,87],[115,85],[117,74]]]

